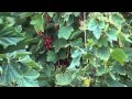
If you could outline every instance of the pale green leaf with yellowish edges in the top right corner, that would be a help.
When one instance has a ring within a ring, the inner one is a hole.
[[[112,21],[117,24],[117,25],[121,25],[125,20],[123,19],[123,16],[120,13],[114,13],[111,16]]]

